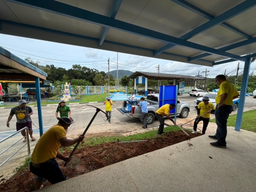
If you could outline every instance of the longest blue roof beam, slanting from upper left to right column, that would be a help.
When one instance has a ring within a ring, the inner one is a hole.
[[[218,49],[213,49],[211,47],[206,47],[201,44],[192,43],[190,41],[185,41],[177,37],[172,37],[171,35],[166,35],[157,31],[142,28],[141,26],[136,26],[130,23],[126,23],[120,20],[115,20],[101,14],[93,13],[91,11],[83,10],[78,7],[72,7],[70,5],[52,1],[32,1],[32,0],[8,0],[17,4],[22,4],[25,6],[38,8],[40,10],[49,11],[50,13],[59,14],[66,17],[71,17],[73,19],[82,20],[85,22],[94,23],[96,25],[106,26],[112,29],[117,29],[124,32],[129,32],[130,34],[140,35],[142,37],[151,38],[153,40],[163,41],[165,43],[172,43],[179,46],[189,47],[190,49],[197,49],[203,52],[212,53],[215,55],[225,56],[227,58],[237,59],[245,61],[244,58],[239,55],[234,55],[232,53],[222,52]],[[248,0],[249,1],[249,0]],[[255,2],[256,3],[256,2]]]

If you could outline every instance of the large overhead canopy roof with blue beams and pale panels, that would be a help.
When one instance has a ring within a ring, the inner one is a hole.
[[[256,50],[255,5],[255,0],[0,0],[0,32],[213,66],[256,56],[242,56]]]

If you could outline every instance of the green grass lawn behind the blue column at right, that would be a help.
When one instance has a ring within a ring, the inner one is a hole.
[[[235,127],[236,125],[236,116],[230,115],[228,118],[228,126]],[[210,122],[216,122],[215,119],[210,119]],[[242,119],[242,130],[252,131],[256,133],[256,109],[249,110],[248,112],[243,112]]]

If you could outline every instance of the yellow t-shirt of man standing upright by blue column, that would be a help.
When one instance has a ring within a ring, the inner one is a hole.
[[[221,85],[219,85],[219,91],[215,98],[216,104],[219,104],[221,101],[222,94],[228,94],[227,99],[222,104],[233,106],[233,96],[239,95],[239,92],[236,91],[234,85],[232,85],[228,80],[225,80]]]

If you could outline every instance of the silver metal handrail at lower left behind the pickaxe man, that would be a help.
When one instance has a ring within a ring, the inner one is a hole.
[[[13,137],[14,135],[16,135],[17,133],[20,133],[21,131],[23,131],[23,130],[26,130],[26,143],[25,143],[25,145],[28,145],[28,155],[30,155],[30,146],[29,146],[29,135],[28,135],[28,127],[24,127],[24,128],[22,128],[21,130],[19,130],[19,131],[17,131],[16,133],[13,133],[13,134],[11,134],[10,136],[7,136],[7,137],[5,137],[4,139],[2,139],[2,140],[0,140],[0,143],[2,143],[2,142],[4,142],[5,140],[7,140],[7,139],[9,139],[9,138],[11,138],[11,137]],[[22,139],[24,139],[24,137],[22,137]],[[20,140],[22,140],[22,139],[20,139]],[[4,151],[2,151],[1,153],[0,153],[0,155],[2,155],[5,151],[7,151],[8,149],[10,149],[12,146],[14,146],[14,145],[16,145],[18,142],[20,142],[20,140],[18,140],[16,143],[14,143],[13,145],[11,145],[11,146],[9,146],[7,149],[4,149]],[[23,145],[20,149],[22,149],[25,145]],[[3,163],[1,163],[0,164],[0,167],[4,164],[4,163],[6,163],[8,160],[10,160],[10,158],[11,157],[13,157],[13,155],[15,155],[17,152],[19,152],[20,151],[20,149],[19,150],[17,150],[16,152],[14,152],[14,154],[12,154],[10,157],[8,157],[7,158],[7,160],[5,160]]]

